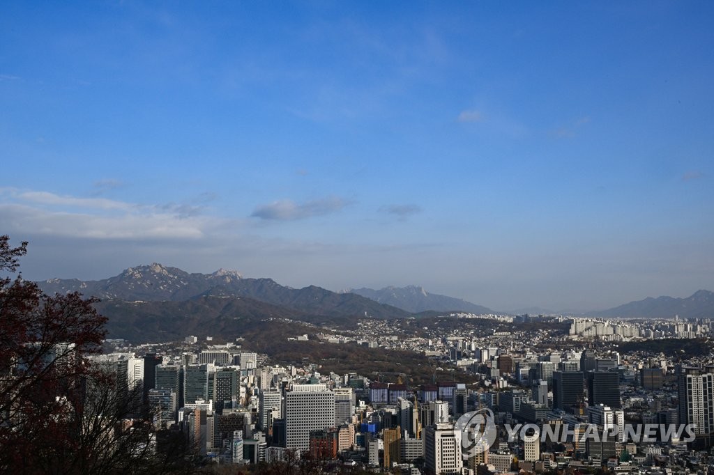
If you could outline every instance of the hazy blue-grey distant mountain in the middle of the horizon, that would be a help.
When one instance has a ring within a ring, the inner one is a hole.
[[[432,294],[424,290],[424,287],[408,285],[407,287],[384,287],[380,290],[361,289],[343,290],[353,294],[367,297],[375,302],[401,308],[407,312],[426,312],[428,310],[438,310],[441,312],[461,311],[474,313],[477,315],[491,314],[493,310],[482,305],[476,305],[463,299],[448,297],[446,295]]]

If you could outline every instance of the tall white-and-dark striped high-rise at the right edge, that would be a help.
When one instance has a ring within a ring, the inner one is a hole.
[[[679,423],[694,424],[697,436],[714,432],[714,373],[709,368],[679,367]]]

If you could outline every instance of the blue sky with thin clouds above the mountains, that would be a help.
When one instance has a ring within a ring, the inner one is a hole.
[[[0,233],[498,310],[714,290],[714,4],[4,2]]]

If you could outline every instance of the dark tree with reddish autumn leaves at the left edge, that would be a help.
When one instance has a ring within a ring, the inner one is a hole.
[[[0,236],[0,272],[15,272],[26,246]],[[31,471],[39,442],[69,442],[64,422],[84,397],[86,357],[104,338],[94,302],[44,295],[19,274],[0,280],[0,469]]]

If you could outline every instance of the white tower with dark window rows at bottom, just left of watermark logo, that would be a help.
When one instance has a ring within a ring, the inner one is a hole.
[[[434,424],[423,431],[424,468],[433,475],[460,474],[461,434],[457,436],[452,424]]]

